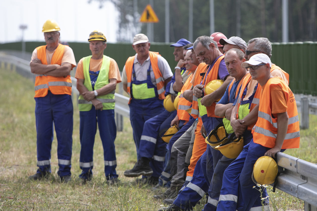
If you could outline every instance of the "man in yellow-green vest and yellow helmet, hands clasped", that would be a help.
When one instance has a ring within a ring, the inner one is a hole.
[[[93,148],[98,122],[107,183],[115,183],[118,182],[118,175],[114,146],[117,133],[114,121],[114,91],[117,83],[121,82],[121,76],[116,61],[103,55],[107,47],[105,35],[95,30],[89,34],[88,41],[92,55],[78,62],[75,75],[77,89],[81,94],[78,106],[81,141],[79,165],[82,172],[79,177],[85,182],[93,176]]]

